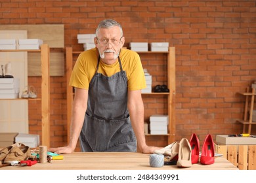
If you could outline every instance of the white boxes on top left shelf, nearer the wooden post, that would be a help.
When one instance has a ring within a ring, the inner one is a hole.
[[[39,50],[43,40],[41,39],[19,39],[18,49],[19,50]]]

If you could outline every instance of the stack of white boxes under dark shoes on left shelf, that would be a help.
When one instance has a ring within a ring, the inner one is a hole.
[[[17,99],[19,92],[18,78],[0,78],[0,99]]]

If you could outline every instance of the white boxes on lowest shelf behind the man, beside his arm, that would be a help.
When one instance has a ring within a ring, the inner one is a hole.
[[[167,126],[169,124],[168,115],[152,115],[150,116],[150,134],[151,135],[167,135]]]

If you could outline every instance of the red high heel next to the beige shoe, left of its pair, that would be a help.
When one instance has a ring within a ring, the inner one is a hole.
[[[190,137],[190,146],[191,146],[191,163],[195,164],[198,163],[199,160],[199,151],[200,151],[200,142],[198,136],[193,133]]]

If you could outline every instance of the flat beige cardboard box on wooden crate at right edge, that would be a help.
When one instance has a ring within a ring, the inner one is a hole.
[[[256,144],[256,138],[228,137],[228,135],[216,135],[216,143],[220,145],[251,145]]]

